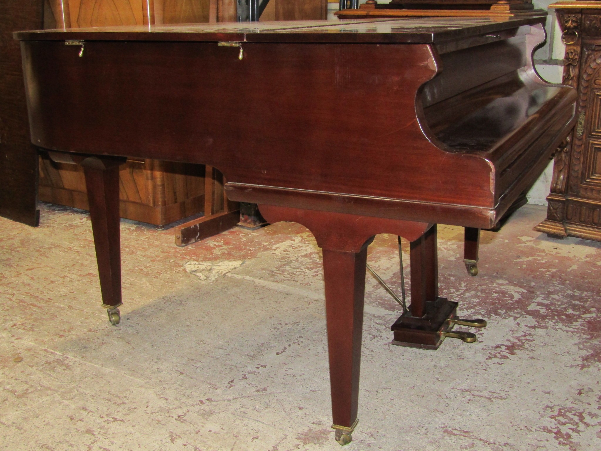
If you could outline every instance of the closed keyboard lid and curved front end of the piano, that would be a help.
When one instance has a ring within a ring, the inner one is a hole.
[[[541,24],[485,38],[492,41],[475,48],[438,46],[441,73],[424,85],[418,106],[437,147],[490,162],[496,222],[573,126],[576,92],[535,71],[532,57],[545,41]]]

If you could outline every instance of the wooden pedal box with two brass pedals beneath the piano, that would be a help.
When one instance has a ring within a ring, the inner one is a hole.
[[[391,327],[394,333],[392,344],[435,351],[445,338],[457,338],[465,343],[476,342],[476,334],[472,332],[451,330],[455,325],[486,327],[486,321],[457,318],[457,305],[458,302],[438,298],[436,301],[426,302],[426,314],[423,318],[411,316],[410,310],[404,312]]]

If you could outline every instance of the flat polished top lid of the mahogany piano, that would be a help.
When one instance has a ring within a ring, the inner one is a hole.
[[[545,23],[530,17],[407,17],[368,20],[195,23],[19,31],[19,40],[433,43]]]

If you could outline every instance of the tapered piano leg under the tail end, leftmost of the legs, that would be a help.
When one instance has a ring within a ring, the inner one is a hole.
[[[121,321],[117,307],[121,302],[121,238],[119,230],[119,165],[123,161],[90,157],[79,164],[84,167],[90,218],[100,276],[102,307],[109,321]]]

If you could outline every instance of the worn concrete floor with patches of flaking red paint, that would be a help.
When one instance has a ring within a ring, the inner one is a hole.
[[[172,230],[122,221],[113,327],[88,215],[41,209],[38,229],[0,218],[0,449],[340,449],[307,229],[233,229],[177,248]],[[532,232],[544,217],[526,206],[484,232],[477,277],[462,229],[439,226],[441,295],[487,319],[477,343],[392,346],[398,306],[367,276],[346,449],[601,449],[601,244]],[[368,262],[400,291],[394,236],[378,236]]]

